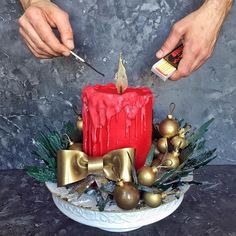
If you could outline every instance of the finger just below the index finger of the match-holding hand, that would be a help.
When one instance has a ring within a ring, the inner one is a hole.
[[[24,36],[31,39],[31,41],[36,45],[36,47],[40,51],[44,51],[46,54],[52,55],[52,56],[59,56],[60,54],[52,50],[46,43],[44,43],[33,26],[30,24],[30,22],[24,17],[21,20],[19,20],[20,27],[24,31]],[[27,40],[29,41],[29,40]],[[31,45],[32,46],[32,45]]]

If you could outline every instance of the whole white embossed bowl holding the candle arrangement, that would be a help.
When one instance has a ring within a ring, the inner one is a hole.
[[[188,180],[189,177],[192,179],[192,175],[188,176]],[[93,197],[84,194],[85,196],[82,195],[78,200],[66,188],[57,188],[55,183],[46,182],[46,186],[52,193],[54,203],[66,216],[81,224],[110,232],[131,231],[164,219],[180,206],[184,193],[189,189],[189,185],[184,185],[181,187],[178,199],[169,196],[157,208],[143,207],[138,210],[124,211],[113,204],[100,212]]]

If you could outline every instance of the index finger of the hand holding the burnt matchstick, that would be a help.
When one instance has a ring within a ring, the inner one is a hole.
[[[57,39],[41,11],[37,16],[31,18],[31,24],[33,25],[41,40],[46,43],[53,51],[63,54],[64,56],[70,55],[70,50],[61,44]]]

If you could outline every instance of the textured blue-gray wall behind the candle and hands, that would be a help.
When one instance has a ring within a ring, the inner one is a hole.
[[[221,31],[213,57],[188,79],[160,81],[150,73],[155,52],[171,24],[198,7],[200,1],[60,0],[70,13],[76,47],[105,72],[101,78],[73,58],[35,59],[22,43],[16,0],[0,3],[0,168],[31,163],[32,138],[45,125],[60,128],[75,120],[69,103],[81,105],[81,88],[113,80],[120,51],[131,85],[150,86],[155,118],[164,118],[168,104],[176,116],[197,126],[210,117],[210,146],[218,148],[215,164],[236,164],[236,7]]]

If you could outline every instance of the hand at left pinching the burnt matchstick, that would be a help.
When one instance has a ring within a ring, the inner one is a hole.
[[[74,48],[73,32],[69,16],[49,0],[32,0],[19,19],[25,43],[38,58],[69,56]],[[57,28],[61,42],[52,28]]]

